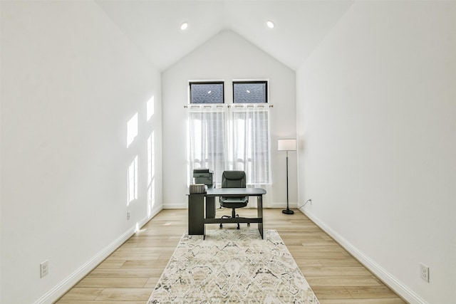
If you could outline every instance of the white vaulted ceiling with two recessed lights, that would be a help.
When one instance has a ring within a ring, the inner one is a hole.
[[[353,1],[95,0],[163,71],[224,29],[296,70]],[[275,27],[266,26],[274,21]],[[189,26],[180,29],[183,21]]]

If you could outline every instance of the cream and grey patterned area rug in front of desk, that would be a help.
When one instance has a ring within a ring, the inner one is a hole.
[[[276,230],[213,229],[184,234],[152,303],[318,303]]]

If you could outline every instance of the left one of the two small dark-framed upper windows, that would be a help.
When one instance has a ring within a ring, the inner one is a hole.
[[[224,103],[223,86],[223,81],[190,83],[190,103]]]

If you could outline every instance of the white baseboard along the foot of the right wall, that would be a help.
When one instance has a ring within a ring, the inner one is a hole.
[[[320,227],[323,231],[326,232],[329,236],[331,236],[337,243],[339,243],[346,251],[348,251],[352,256],[354,256],[360,263],[362,263],[369,271],[373,272],[375,276],[378,276],[380,280],[382,280],[386,285],[388,285],[391,289],[393,289],[396,293],[398,293],[402,298],[407,300],[411,304],[428,304],[423,298],[417,295],[413,290],[410,290],[406,285],[401,283],[395,276],[385,268],[375,263],[371,258],[366,256],[362,251],[358,250],[352,243],[347,241],[343,238],[340,234],[336,231],[333,231],[330,226],[327,226],[321,219],[318,219],[317,216],[312,214],[309,211],[304,211],[299,209],[302,213],[304,213],[311,221],[313,221],[318,227]]]

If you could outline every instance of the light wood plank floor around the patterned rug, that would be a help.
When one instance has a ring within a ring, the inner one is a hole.
[[[239,214],[253,216],[255,211]],[[229,212],[217,209],[217,217]],[[235,229],[235,224],[224,229]],[[257,224],[241,229],[257,229]],[[300,211],[286,215],[281,209],[264,209],[264,229],[279,232],[321,304],[405,303]],[[186,209],[161,211],[56,303],[145,304],[185,231]]]

